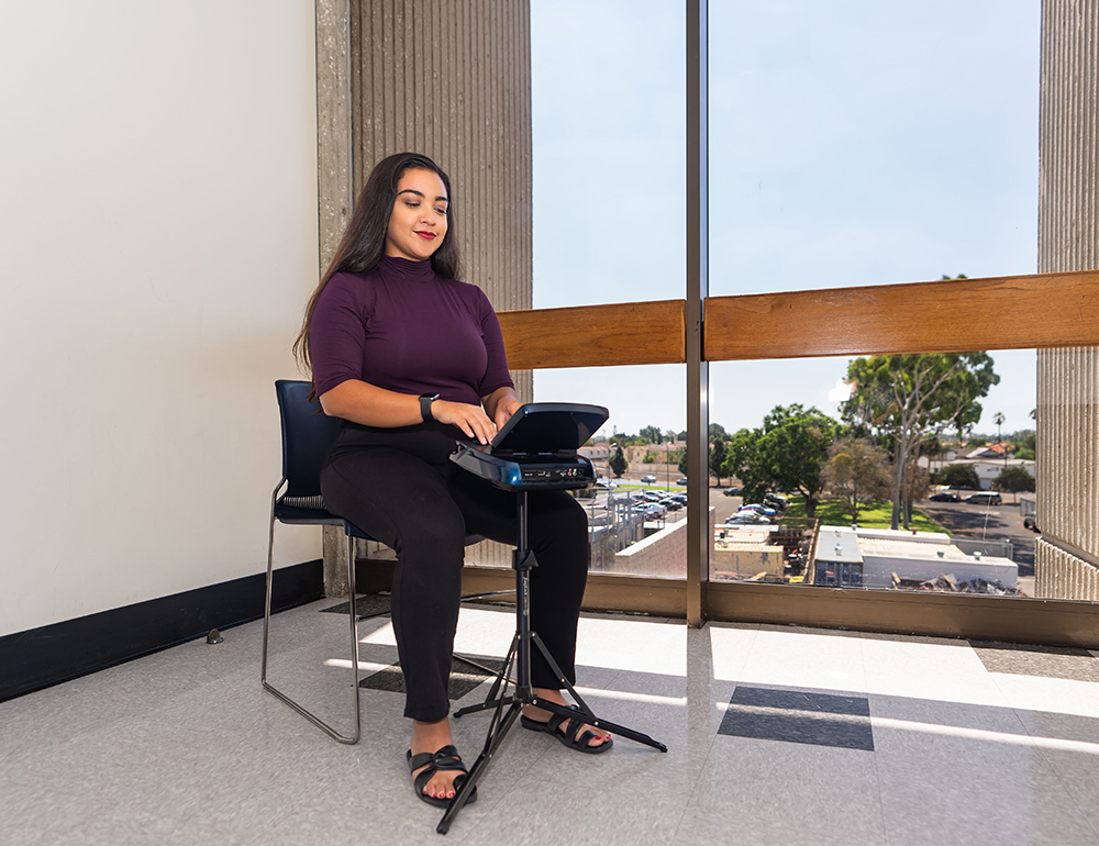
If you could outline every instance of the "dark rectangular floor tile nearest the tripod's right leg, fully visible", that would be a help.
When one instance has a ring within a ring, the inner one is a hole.
[[[718,734],[874,752],[865,697],[739,686]]]

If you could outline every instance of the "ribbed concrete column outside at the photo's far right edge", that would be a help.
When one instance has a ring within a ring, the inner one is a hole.
[[[1042,4],[1039,272],[1099,268],[1099,0]],[[1099,599],[1099,348],[1037,354],[1040,597]]]

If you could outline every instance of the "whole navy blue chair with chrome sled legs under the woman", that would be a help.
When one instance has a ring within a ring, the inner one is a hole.
[[[321,496],[321,467],[332,448],[332,443],[340,434],[340,419],[330,418],[322,410],[320,402],[309,399],[311,382],[291,379],[279,379],[275,382],[275,394],[278,398],[279,419],[282,425],[282,478],[271,493],[270,526],[267,542],[267,598],[264,603],[264,647],[262,682],[264,690],[288,704],[313,725],[340,743],[358,743],[359,698],[358,698],[358,621],[366,619],[358,615],[355,606],[355,539],[374,541],[366,532],[343,517],[330,512]],[[307,526],[342,526],[347,537],[347,591],[351,597],[348,616],[351,617],[351,664],[355,676],[353,695],[355,700],[355,728],[351,735],[342,735],[331,725],[312,712],[302,708],[286,693],[267,681],[267,653],[271,620],[271,583],[275,561],[275,523]],[[479,535],[466,535],[466,546],[476,544],[484,538]],[[464,600],[496,597],[513,591],[492,591],[463,597]],[[388,613],[386,611],[379,612]],[[369,614],[368,616],[377,616]],[[469,658],[456,656],[464,664],[476,667],[481,672],[493,676],[496,670],[485,667]]]

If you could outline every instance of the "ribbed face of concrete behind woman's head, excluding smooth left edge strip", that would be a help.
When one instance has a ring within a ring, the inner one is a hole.
[[[533,303],[530,7],[364,0],[352,13],[356,190],[413,149],[451,176],[466,280],[497,310]]]

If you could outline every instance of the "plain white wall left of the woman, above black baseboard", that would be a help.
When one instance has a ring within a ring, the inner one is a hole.
[[[315,138],[311,2],[0,3],[0,635],[266,566]]]

